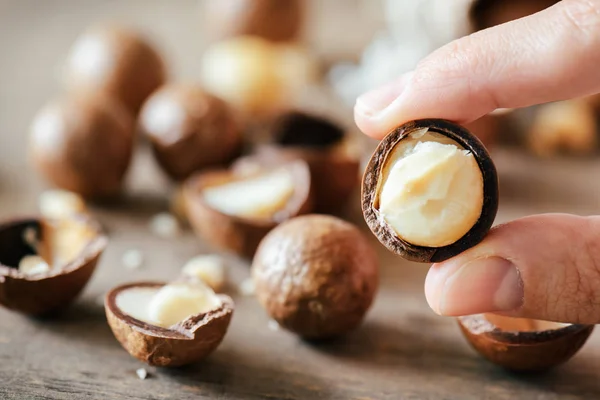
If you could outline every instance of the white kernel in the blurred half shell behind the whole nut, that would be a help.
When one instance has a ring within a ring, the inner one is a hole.
[[[294,193],[289,168],[204,190],[204,201],[224,214],[243,218],[271,218],[285,207]]]

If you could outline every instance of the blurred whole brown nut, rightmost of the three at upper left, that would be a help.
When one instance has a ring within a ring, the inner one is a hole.
[[[176,180],[227,164],[242,145],[230,107],[194,84],[169,84],[154,92],[140,111],[139,130]]]

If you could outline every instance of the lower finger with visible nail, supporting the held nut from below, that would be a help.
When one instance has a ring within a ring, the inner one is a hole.
[[[501,225],[479,245],[427,275],[441,315],[600,322],[600,217],[547,214]]]

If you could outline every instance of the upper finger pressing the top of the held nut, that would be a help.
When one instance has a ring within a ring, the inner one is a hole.
[[[600,0],[563,0],[456,40],[356,101],[355,121],[382,138],[419,118],[471,122],[517,108],[600,92]]]

